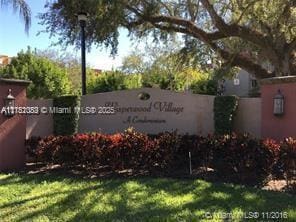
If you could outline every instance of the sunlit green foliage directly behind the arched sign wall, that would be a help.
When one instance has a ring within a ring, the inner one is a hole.
[[[190,58],[184,60],[176,43],[158,46],[147,45],[141,53],[139,50],[132,51],[124,57],[122,71],[113,70],[87,78],[88,91],[98,93],[156,87],[215,95],[217,81],[212,79],[212,73],[201,70]],[[183,61],[189,62],[189,65]]]

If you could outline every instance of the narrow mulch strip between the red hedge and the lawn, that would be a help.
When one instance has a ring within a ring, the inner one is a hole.
[[[69,177],[80,178],[133,178],[133,177],[171,177],[183,179],[205,179],[211,182],[221,182],[222,178],[215,175],[212,169],[198,168],[193,169],[192,174],[189,172],[175,171],[173,174],[163,174],[154,172],[152,175],[147,171],[134,171],[132,169],[125,169],[121,171],[113,171],[109,166],[99,166],[91,168],[85,165],[61,166],[59,164],[45,164],[45,163],[27,163],[25,169],[22,171],[26,174],[59,174],[67,175]],[[227,182],[227,181],[223,181]],[[295,181],[296,184],[296,181]],[[295,188],[288,189],[285,180],[271,180],[266,185],[261,187],[264,190],[272,190],[279,192],[290,192],[295,194]]]

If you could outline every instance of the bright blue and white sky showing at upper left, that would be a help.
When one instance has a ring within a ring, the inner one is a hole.
[[[38,24],[39,19],[37,18],[38,13],[45,12],[45,2],[46,0],[27,0],[32,12],[29,34],[25,33],[25,25],[18,12],[14,13],[11,6],[0,8],[0,55],[16,56],[22,49],[26,50],[27,46],[40,50],[61,50],[58,46],[51,46],[56,39],[49,39],[48,33],[37,36],[39,31],[45,29]],[[120,31],[118,55],[114,59],[110,57],[110,52],[106,49],[92,47],[91,51],[86,54],[87,64],[92,68],[102,70],[118,68],[122,58],[128,55],[133,48],[127,34],[126,30]],[[75,50],[73,47],[68,47],[67,51],[74,56],[80,56],[80,50]]]

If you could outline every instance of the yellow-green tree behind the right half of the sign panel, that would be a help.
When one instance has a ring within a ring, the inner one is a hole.
[[[129,74],[127,77],[141,74],[144,87],[176,91],[191,88],[195,93],[206,94],[212,75],[203,70],[191,54],[181,53],[180,45],[180,41],[174,40],[168,44],[148,44],[142,53],[132,51],[123,58],[122,71]]]

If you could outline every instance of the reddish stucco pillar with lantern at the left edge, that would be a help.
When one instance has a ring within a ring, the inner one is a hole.
[[[12,90],[16,106],[26,106],[26,85],[18,82],[5,82],[0,79],[0,107],[4,98]],[[25,164],[26,117],[15,115],[6,117],[0,114],[0,171],[22,168]]]

